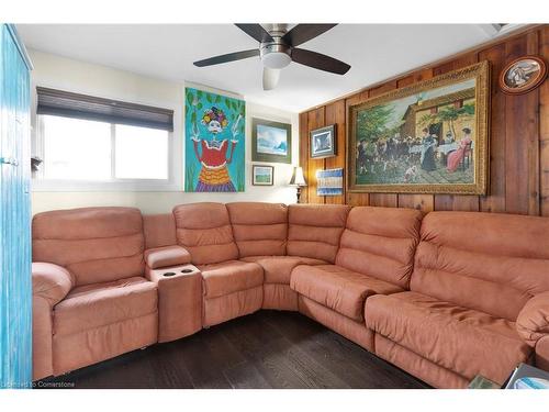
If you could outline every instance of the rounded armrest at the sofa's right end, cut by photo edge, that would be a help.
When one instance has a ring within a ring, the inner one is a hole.
[[[536,294],[524,305],[516,320],[518,334],[533,347],[549,335],[549,291]]]

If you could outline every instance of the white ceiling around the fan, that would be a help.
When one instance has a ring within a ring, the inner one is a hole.
[[[192,62],[254,48],[232,24],[18,24],[25,45],[156,78],[192,81],[292,112],[450,56],[495,35],[481,24],[339,24],[300,47],[341,59],[345,76],[291,64],[276,90],[261,88],[261,62],[211,67]]]

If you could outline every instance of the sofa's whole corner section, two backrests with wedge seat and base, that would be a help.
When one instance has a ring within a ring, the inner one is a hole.
[[[348,207],[235,202],[227,209],[240,260],[264,269],[262,308],[298,311],[292,269],[333,261]]]

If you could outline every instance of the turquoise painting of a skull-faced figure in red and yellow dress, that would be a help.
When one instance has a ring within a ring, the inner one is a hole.
[[[184,94],[184,190],[244,191],[245,102],[192,88]]]

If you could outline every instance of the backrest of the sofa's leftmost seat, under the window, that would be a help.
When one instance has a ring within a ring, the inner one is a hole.
[[[33,261],[67,268],[76,286],[143,276],[141,211],[134,208],[83,208],[38,213],[33,218]]]

